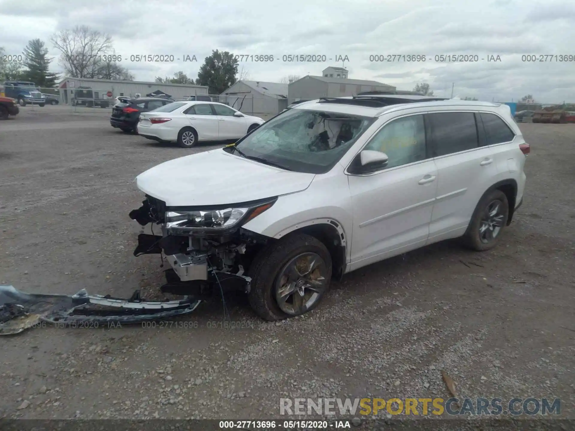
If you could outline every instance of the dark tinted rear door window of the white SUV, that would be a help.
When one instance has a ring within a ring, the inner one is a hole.
[[[478,148],[477,125],[473,112],[438,112],[426,114],[431,132],[434,157]]]

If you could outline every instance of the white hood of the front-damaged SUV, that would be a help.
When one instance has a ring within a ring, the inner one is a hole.
[[[285,171],[216,149],[166,161],[136,177],[167,206],[226,205],[295,193],[315,174]]]

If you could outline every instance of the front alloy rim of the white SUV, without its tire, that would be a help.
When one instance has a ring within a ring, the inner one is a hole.
[[[327,265],[316,253],[302,253],[290,260],[279,272],[275,299],[289,315],[309,310],[327,288]]]

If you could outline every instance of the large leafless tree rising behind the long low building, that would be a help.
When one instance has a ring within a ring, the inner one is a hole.
[[[86,25],[62,30],[50,41],[60,51],[60,64],[66,74],[74,78],[95,78],[104,56],[112,51],[112,38]]]

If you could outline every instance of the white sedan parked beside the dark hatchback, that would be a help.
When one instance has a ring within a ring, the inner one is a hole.
[[[137,131],[148,139],[190,148],[198,141],[239,139],[264,122],[223,103],[182,101],[141,113]]]

